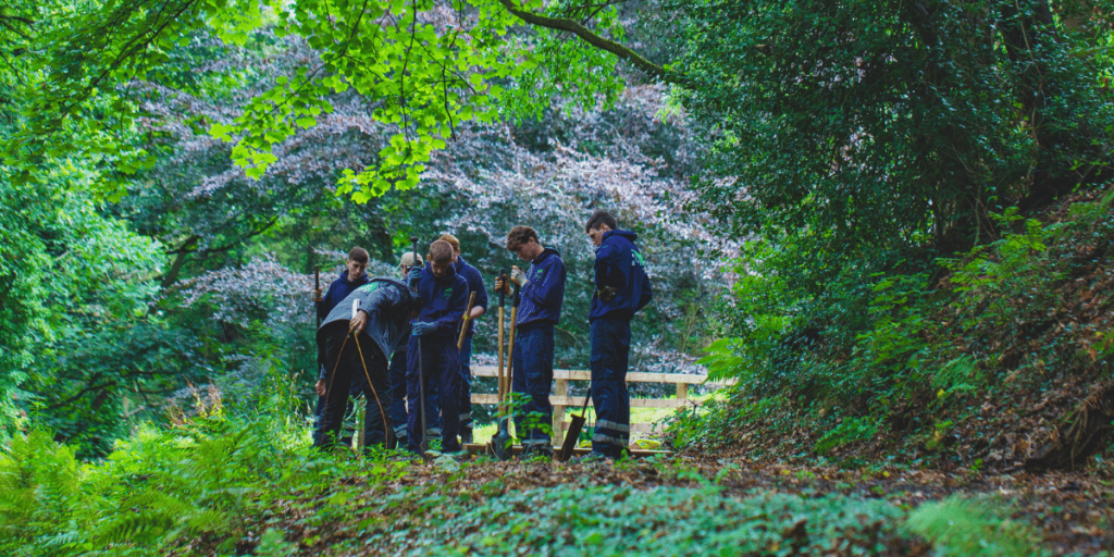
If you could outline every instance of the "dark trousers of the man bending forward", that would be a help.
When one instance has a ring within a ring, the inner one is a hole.
[[[326,362],[332,362],[332,369],[326,363],[325,383],[329,391],[325,393],[325,408],[314,436],[314,443],[317,447],[331,448],[336,443],[342,443],[341,430],[344,424],[344,414],[351,408],[349,397],[352,394],[352,387],[358,385],[358,394],[362,394],[367,401],[364,412],[364,443],[385,444],[391,437],[390,427],[387,424],[385,410],[391,407],[391,392],[387,379],[387,359],[380,353],[379,346],[367,335],[356,339],[349,339],[344,342],[346,331],[343,329],[332,335],[326,345]],[[359,345],[356,344],[359,342]],[[360,354],[363,353],[361,360]],[[367,364],[367,377],[364,377],[364,364]],[[356,381],[359,377],[362,381]],[[371,379],[368,384],[367,378]]]

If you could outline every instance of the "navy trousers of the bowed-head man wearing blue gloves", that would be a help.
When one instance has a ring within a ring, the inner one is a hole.
[[[421,380],[424,380],[424,387]],[[457,402],[460,395],[460,353],[457,351],[457,341],[450,336],[411,336],[407,350],[407,400],[421,400],[422,389],[424,388],[428,394],[431,384],[438,385],[442,394],[441,450],[459,451],[460,441],[457,440],[457,433],[460,429],[460,416]],[[410,450],[413,452],[420,450],[426,436],[426,432],[421,431],[421,412],[416,407],[417,404],[411,403],[407,416]],[[431,416],[427,413],[427,422],[430,418]]]

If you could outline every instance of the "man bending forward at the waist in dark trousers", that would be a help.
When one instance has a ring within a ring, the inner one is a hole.
[[[317,329],[317,342],[325,345],[325,410],[315,446],[331,449],[339,444],[353,385],[367,401],[365,447],[390,442],[387,362],[418,307],[417,293],[404,283],[378,277],[355,289],[325,316]]]

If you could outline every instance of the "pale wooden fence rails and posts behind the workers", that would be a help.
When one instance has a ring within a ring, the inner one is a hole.
[[[494,365],[472,365],[472,374],[478,378],[498,377],[498,370]],[[584,397],[569,397],[569,381],[590,381],[592,372],[588,370],[554,370],[554,394],[549,395],[549,402],[554,405],[554,446],[560,447],[565,437],[565,409],[580,408],[584,405]],[[734,384],[734,380],[707,382],[707,375],[692,375],[686,373],[627,373],[627,383],[667,383],[676,385],[676,398],[674,399],[631,399],[631,408],[681,408],[688,405],[688,385],[706,384],[710,387],[725,387]],[[472,404],[498,404],[499,395],[496,393],[472,393]],[[653,423],[632,423],[632,433],[648,433],[655,431]]]

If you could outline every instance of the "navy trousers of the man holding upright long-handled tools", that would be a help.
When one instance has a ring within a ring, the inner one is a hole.
[[[522,450],[553,452],[548,430],[554,421],[554,407],[549,403],[554,381],[554,326],[538,323],[518,328],[511,361],[511,391],[529,395],[526,407],[515,412],[515,431],[522,440]]]

